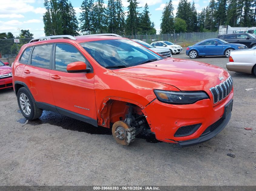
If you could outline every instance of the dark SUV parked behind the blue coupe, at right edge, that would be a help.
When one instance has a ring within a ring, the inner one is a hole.
[[[229,43],[244,44],[248,48],[252,48],[256,46],[256,38],[250,33],[222,34],[218,38],[225,40]]]

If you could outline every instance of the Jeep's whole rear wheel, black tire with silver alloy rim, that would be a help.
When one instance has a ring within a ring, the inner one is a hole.
[[[18,90],[17,99],[20,111],[26,119],[33,120],[42,115],[43,110],[35,105],[35,100],[27,88],[22,87]]]

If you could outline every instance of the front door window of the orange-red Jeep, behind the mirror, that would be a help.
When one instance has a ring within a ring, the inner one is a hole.
[[[85,58],[72,45],[57,44],[55,50],[55,69],[66,71],[67,65],[72,62],[85,62]]]

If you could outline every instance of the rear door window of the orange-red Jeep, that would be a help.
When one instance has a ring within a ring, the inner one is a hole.
[[[32,52],[31,65],[50,68],[52,44],[35,46]]]

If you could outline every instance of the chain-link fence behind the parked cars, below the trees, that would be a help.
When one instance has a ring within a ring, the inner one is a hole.
[[[217,38],[218,32],[207,33],[169,33],[169,34],[154,34],[154,35],[130,35],[124,36],[129,39],[138,39],[149,44],[155,41],[170,41],[182,47],[186,47],[197,43],[201,40],[209,38]],[[31,38],[19,39],[0,39],[0,59],[4,62],[12,63],[17,56],[22,45],[28,43]]]

